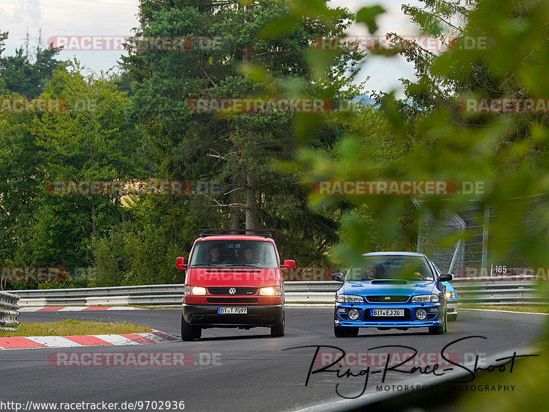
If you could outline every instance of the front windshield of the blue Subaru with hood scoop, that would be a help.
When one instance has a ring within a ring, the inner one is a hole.
[[[364,256],[362,265],[351,267],[347,281],[360,280],[433,280],[427,260],[421,256]]]

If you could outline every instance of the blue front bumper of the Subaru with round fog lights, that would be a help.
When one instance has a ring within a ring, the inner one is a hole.
[[[349,309],[358,309],[358,319],[349,319]],[[416,310],[425,309],[426,319],[419,320]],[[403,317],[374,316],[373,309],[403,309]],[[443,303],[407,303],[407,304],[369,304],[369,303],[336,303],[334,322],[336,326],[353,326],[360,328],[424,328],[425,326],[440,326],[443,321]]]

